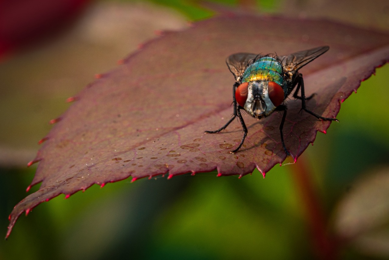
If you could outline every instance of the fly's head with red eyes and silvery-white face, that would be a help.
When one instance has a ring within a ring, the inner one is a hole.
[[[270,115],[284,101],[284,90],[274,81],[250,81],[238,86],[235,99],[252,117]]]

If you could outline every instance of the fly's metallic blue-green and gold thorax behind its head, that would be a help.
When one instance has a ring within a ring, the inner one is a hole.
[[[284,80],[281,76],[282,65],[272,57],[262,57],[253,64],[251,64],[245,70],[242,76],[242,83],[261,80],[261,81],[274,81],[278,85],[282,85]]]

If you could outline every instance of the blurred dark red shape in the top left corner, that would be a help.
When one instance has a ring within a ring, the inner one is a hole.
[[[58,34],[79,16],[89,0],[14,0],[0,2],[0,58]]]

